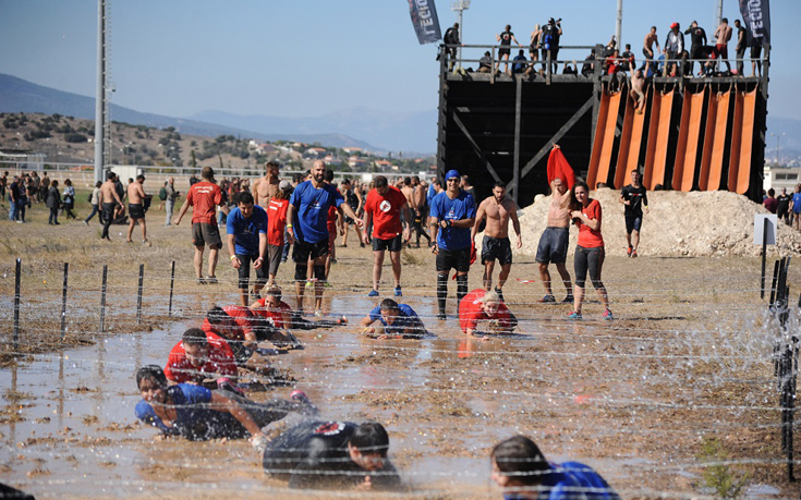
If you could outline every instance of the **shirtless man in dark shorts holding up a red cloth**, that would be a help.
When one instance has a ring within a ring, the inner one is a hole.
[[[556,178],[550,182],[550,207],[548,207],[547,228],[539,237],[537,245],[536,261],[539,264],[539,278],[545,286],[545,296],[539,301],[543,304],[553,304],[556,302],[554,291],[550,288],[550,272],[548,272],[548,264],[556,265],[556,270],[562,278],[567,297],[563,304],[573,303],[573,291],[570,284],[570,273],[565,267],[568,259],[568,228],[570,225],[570,191],[563,180]]]

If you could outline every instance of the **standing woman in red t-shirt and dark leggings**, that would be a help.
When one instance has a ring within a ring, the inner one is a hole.
[[[573,289],[573,312],[569,319],[581,319],[581,305],[584,302],[584,282],[587,271],[593,282],[598,298],[604,304],[604,319],[612,319],[609,310],[609,297],[606,288],[600,281],[600,270],[604,267],[604,237],[600,235],[600,204],[597,199],[590,198],[590,188],[586,183],[577,181],[570,191],[571,211],[570,217],[579,228],[579,242],[575,246],[573,258],[573,270],[575,272],[575,286]]]

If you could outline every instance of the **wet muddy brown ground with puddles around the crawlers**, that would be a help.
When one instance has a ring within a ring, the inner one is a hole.
[[[37,498],[289,498],[286,485],[265,478],[245,441],[161,440],[134,422],[135,369],[163,365],[204,310],[236,300],[227,253],[221,283],[195,284],[189,224],[163,228],[156,223],[161,214],[148,214],[151,247],[125,244],[121,227],[112,243],[101,244],[97,223],[51,228],[37,212],[28,224],[0,222],[3,483]],[[403,257],[403,300],[436,337],[377,341],[353,326],[377,303],[365,296],[371,252],[351,241],[337,253],[325,310],[348,315],[351,326],[299,332],[306,349],[272,358],[295,382],[252,397],[288,397],[296,387],[324,417],[384,423],[390,456],[410,487],[403,497],[499,498],[489,483],[488,450],[514,434],[531,436],[551,460],[594,466],[624,498],[716,496],[709,481],[726,476],[739,479],[748,496],[798,497],[782,463],[772,362],[778,330],[760,298],[758,258],[628,259],[610,248],[604,282],[616,319],[603,321],[600,305],[591,302],[585,319],[571,322],[565,318],[569,306],[536,304],[543,290],[533,257],[515,256],[505,295],[521,319],[518,332],[478,341],[459,331],[454,301],[448,320],[433,318],[433,257],[412,249]],[[23,259],[22,328],[14,350],[16,257]],[[775,258],[769,255],[768,282]],[[109,308],[99,332],[102,264]],[[137,324],[139,264],[145,278]],[[291,272],[283,266],[279,280]],[[791,267],[796,296],[800,278]],[[470,282],[480,285],[477,267]],[[563,290],[556,290],[561,298]],[[451,282],[451,296],[454,291]],[[791,324],[797,330],[796,312]]]

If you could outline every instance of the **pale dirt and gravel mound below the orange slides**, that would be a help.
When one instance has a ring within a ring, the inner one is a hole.
[[[604,210],[602,232],[607,255],[626,251],[626,222],[620,192],[600,188],[591,193]],[[535,255],[539,235],[545,229],[550,196],[522,209],[522,252]],[[726,191],[682,193],[648,192],[651,214],[644,216],[640,255],[644,256],[758,256],[761,246],[753,244],[754,214],[767,214],[764,207],[744,196]],[[578,231],[570,230],[570,253],[575,247]],[[481,240],[476,239],[481,244]],[[801,253],[801,232],[779,224],[777,245],[768,252],[780,255]]]

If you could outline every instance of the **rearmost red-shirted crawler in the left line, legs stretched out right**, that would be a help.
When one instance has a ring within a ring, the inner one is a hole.
[[[282,298],[281,288],[272,285],[262,291],[264,297],[255,301],[251,304],[251,312],[256,316],[267,321],[267,325],[278,330],[270,332],[269,336],[275,337],[278,341],[283,336],[284,342],[298,342],[294,336],[289,329],[296,330],[314,330],[315,328],[333,328],[342,325],[348,325],[348,318],[342,316],[338,319],[317,319],[308,320],[301,316],[300,313],[292,310]],[[276,343],[276,340],[269,338],[270,342]]]

